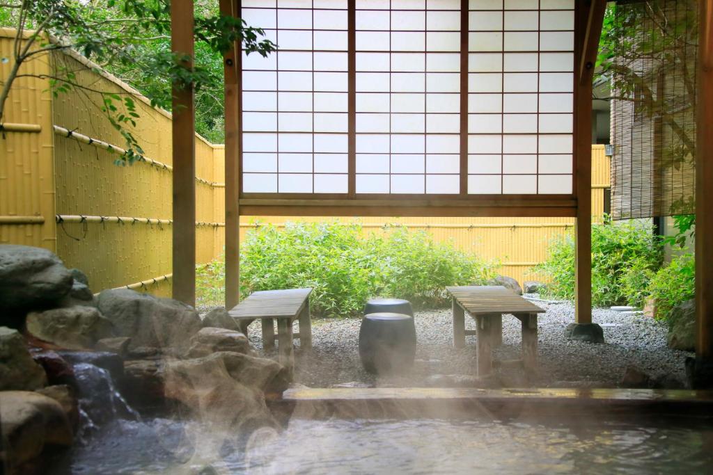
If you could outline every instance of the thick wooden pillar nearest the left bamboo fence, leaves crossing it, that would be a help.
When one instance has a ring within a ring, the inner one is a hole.
[[[171,51],[193,68],[193,1],[171,0]],[[173,85],[173,298],[195,306],[193,86]]]

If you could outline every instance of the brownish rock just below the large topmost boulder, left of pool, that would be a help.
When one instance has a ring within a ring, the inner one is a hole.
[[[35,338],[69,350],[93,348],[113,336],[113,325],[93,307],[54,308],[27,315],[27,331]]]

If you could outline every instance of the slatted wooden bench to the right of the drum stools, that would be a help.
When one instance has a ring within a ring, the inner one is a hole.
[[[463,348],[466,335],[477,335],[478,376],[493,370],[492,348],[503,341],[503,313],[522,324],[523,365],[537,368],[537,314],[545,310],[501,286],[446,287],[453,297],[453,346]],[[466,330],[465,313],[476,320],[476,330]]]

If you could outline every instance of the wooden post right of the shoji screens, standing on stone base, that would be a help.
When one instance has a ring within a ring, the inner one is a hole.
[[[592,81],[605,0],[575,6],[575,321],[592,323]]]

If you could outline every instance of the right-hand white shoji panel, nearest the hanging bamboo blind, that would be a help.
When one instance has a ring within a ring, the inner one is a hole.
[[[468,193],[573,192],[574,0],[470,0]]]

